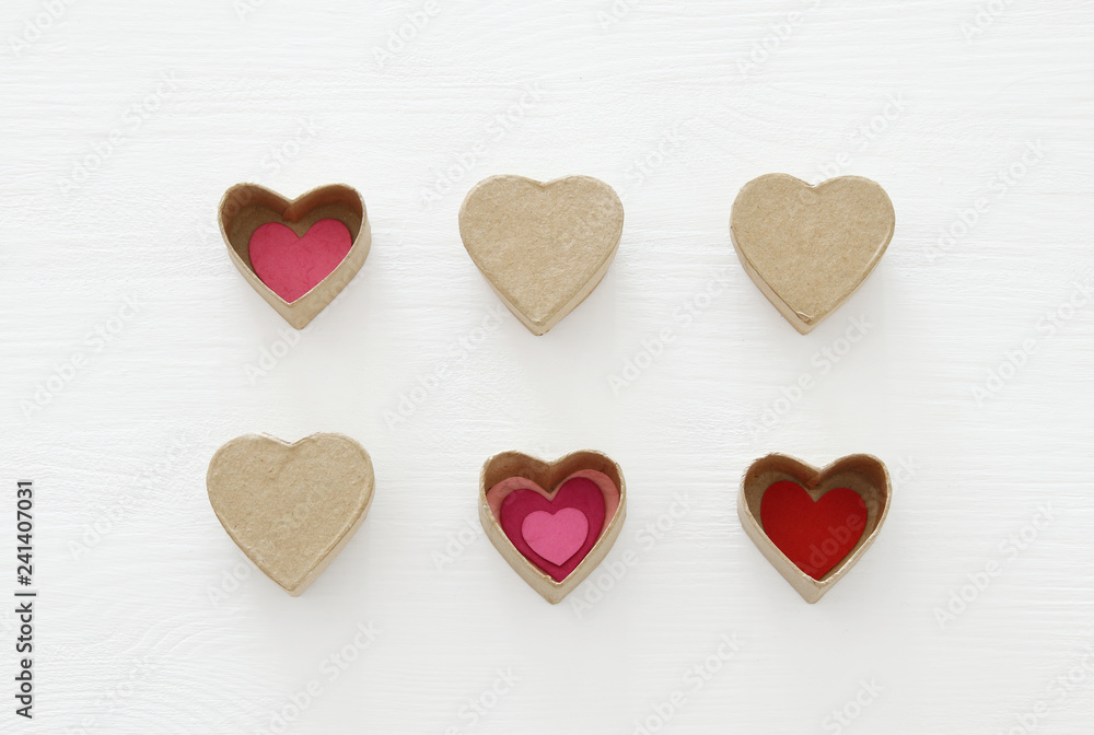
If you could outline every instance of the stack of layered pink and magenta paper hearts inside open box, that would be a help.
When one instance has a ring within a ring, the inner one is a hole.
[[[499,482],[488,495],[504,495],[496,506],[496,517],[521,556],[561,582],[596,545],[609,511],[614,515],[618,508],[618,493],[603,474],[581,471],[563,480],[550,498],[538,485],[520,477]]]

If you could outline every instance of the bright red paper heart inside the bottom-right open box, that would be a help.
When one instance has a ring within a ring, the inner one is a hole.
[[[866,525],[866,503],[850,488],[833,488],[813,502],[805,488],[780,480],[760,501],[764,533],[794,564],[819,580],[850,553]]]

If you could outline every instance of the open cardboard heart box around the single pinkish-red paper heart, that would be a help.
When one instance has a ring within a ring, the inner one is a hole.
[[[307,326],[346,288],[361,269],[372,245],[364,199],[345,184],[321,186],[292,201],[257,184],[236,184],[221,199],[218,219],[232,262],[251,287],[296,329]],[[279,222],[298,237],[304,237],[313,224],[325,219],[345,224],[353,244],[341,262],[318,284],[295,301],[287,302],[255,272],[251,237],[268,222]]]

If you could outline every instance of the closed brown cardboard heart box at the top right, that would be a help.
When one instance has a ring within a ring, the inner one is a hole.
[[[866,280],[895,228],[885,189],[861,176],[810,186],[767,174],[742,187],[730,214],[745,271],[803,335]]]

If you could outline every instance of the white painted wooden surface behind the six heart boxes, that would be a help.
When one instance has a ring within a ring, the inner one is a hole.
[[[0,595],[26,477],[42,594],[33,723],[2,605],[0,731],[1091,732],[1092,33],[1080,1],[7,0]],[[869,176],[897,211],[806,337],[730,244],[769,172]],[[610,271],[545,337],[491,318],[459,243],[499,173],[625,200]],[[299,341],[214,229],[240,180],[368,201],[372,253]],[[344,432],[376,467],[298,599],[206,498],[251,431]],[[619,579],[551,607],[479,533],[476,482],[580,447],[626,472]],[[737,521],[770,451],[896,475],[815,606]]]

